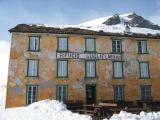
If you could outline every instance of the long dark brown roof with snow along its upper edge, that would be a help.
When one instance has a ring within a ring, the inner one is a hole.
[[[100,35],[100,36],[116,36],[116,37],[136,37],[136,38],[154,38],[160,39],[160,34],[140,34],[140,33],[111,33],[81,29],[76,27],[47,27],[36,24],[18,24],[9,32],[22,32],[22,33],[52,33],[52,34],[79,34],[79,35]]]

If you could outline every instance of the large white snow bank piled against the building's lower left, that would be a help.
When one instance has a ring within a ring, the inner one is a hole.
[[[27,107],[0,109],[0,120],[91,120],[91,117],[72,113],[56,100],[42,100]]]

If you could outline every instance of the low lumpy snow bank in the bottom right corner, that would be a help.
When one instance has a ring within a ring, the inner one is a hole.
[[[119,114],[114,114],[109,120],[160,120],[160,112],[141,112],[137,115],[121,111]]]

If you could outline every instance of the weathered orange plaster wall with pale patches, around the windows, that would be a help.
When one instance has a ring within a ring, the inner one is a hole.
[[[28,36],[41,36],[40,52],[28,51]],[[56,85],[68,85],[69,100],[85,102],[85,85],[96,84],[97,102],[113,99],[113,85],[125,85],[125,100],[140,99],[140,85],[152,85],[154,100],[160,100],[160,40],[148,39],[149,54],[137,54],[138,38],[122,38],[124,79],[113,79],[112,61],[97,60],[97,78],[85,79],[85,61],[69,60],[68,78],[56,77],[57,36],[55,34],[12,33],[6,107],[26,105],[26,85],[37,84],[38,100],[56,99]],[[83,35],[60,35],[69,37],[69,51],[84,52]],[[112,52],[112,39],[107,36],[89,36],[96,38],[98,53]],[[38,58],[39,76],[27,76],[27,59]],[[138,61],[149,61],[151,79],[139,79]]]

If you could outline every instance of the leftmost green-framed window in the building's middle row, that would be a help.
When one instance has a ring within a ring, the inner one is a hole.
[[[36,77],[38,76],[38,69],[39,69],[39,60],[38,59],[29,59],[28,60],[28,77]]]

